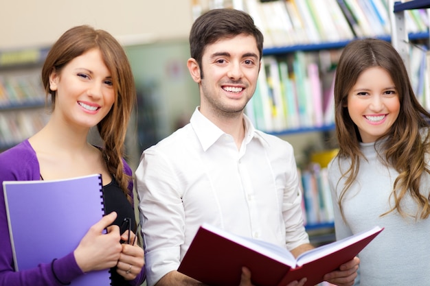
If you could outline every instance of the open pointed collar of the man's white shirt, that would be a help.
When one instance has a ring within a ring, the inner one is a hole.
[[[260,132],[253,127],[253,124],[247,115],[244,114],[243,118],[245,123],[245,144],[248,144],[253,138],[256,138],[261,141],[262,144],[268,145],[267,141],[263,138],[263,136],[261,136]],[[225,134],[223,130],[220,130],[218,126],[201,114],[199,106],[196,108],[196,110],[194,110],[194,113],[190,119],[190,123],[194,129],[194,132],[196,132],[197,138],[199,138],[204,151],[209,149],[210,146],[214,145],[220,136]]]

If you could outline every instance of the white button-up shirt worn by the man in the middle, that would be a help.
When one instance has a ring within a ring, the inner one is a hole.
[[[290,250],[309,242],[293,147],[246,116],[238,150],[196,109],[144,151],[136,178],[148,286],[177,270],[203,222]]]

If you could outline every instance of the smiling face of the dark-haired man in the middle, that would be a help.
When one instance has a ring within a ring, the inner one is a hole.
[[[258,55],[256,39],[240,34],[207,45],[201,67],[194,59],[188,60],[192,78],[200,86],[203,115],[231,117],[242,114],[256,90],[260,69]]]

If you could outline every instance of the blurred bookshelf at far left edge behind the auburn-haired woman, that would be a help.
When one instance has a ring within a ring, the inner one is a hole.
[[[47,122],[41,67],[49,49],[0,51],[0,152]]]

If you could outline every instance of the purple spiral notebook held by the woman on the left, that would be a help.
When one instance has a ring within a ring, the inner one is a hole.
[[[104,215],[102,176],[3,182],[16,271],[50,263],[78,246]],[[109,270],[89,272],[73,286],[111,285]]]

